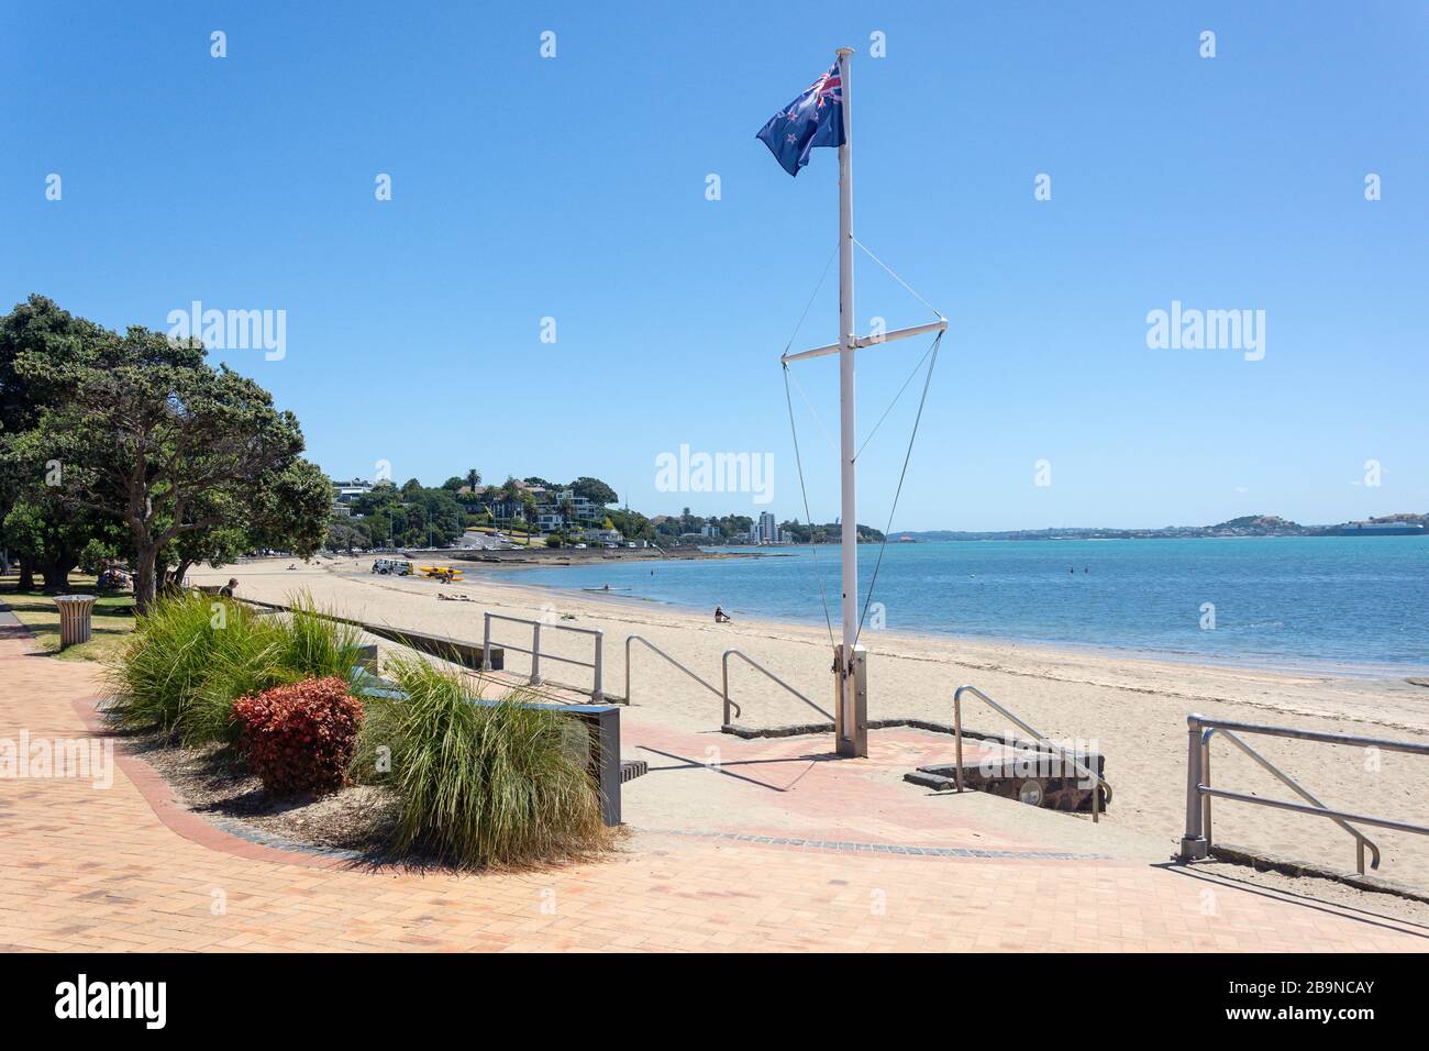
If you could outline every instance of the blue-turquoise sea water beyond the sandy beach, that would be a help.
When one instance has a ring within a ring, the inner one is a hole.
[[[497,572],[556,588],[610,585],[620,598],[690,609],[717,603],[736,619],[815,623],[825,619],[822,576],[837,632],[837,549],[766,551],[779,553]],[[860,608],[877,553],[876,545],[859,549]],[[1429,669],[1422,536],[889,543],[873,602],[890,631],[1238,665]]]

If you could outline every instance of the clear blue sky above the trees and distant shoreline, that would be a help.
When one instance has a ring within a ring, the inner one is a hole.
[[[649,513],[802,516],[777,357],[837,164],[792,180],[753,136],[847,44],[856,233],[950,319],[895,528],[1429,509],[1429,6],[885,7],[7,3],[0,300],[286,310],[282,360],[213,356],[336,476],[596,475]],[[926,319],[857,277],[860,319]],[[796,349],[836,339],[836,289]],[[1147,349],[1172,300],[1265,310],[1263,360]],[[925,349],[862,353],[863,433]],[[796,367],[832,432],[835,360]],[[877,526],[916,388],[860,459]],[[773,502],[657,492],[682,443],[770,453]]]

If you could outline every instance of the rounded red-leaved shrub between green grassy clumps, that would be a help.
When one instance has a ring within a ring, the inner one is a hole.
[[[347,782],[362,705],[336,676],[274,686],[233,702],[239,749],[274,795],[332,792]]]

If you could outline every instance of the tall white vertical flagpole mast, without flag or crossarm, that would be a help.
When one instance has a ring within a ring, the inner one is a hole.
[[[843,96],[843,146],[839,147],[839,438],[842,513],[840,553],[843,581],[842,671],[835,708],[835,745],[839,755],[867,755],[862,691],[862,656],[853,642],[859,632],[859,512],[855,499],[856,455],[853,412],[853,355],[857,323],[853,317],[853,93],[849,83],[852,47],[839,49],[839,90]],[[862,731],[862,732],[860,732]]]

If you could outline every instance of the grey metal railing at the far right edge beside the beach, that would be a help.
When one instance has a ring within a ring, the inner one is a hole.
[[[1408,821],[1395,821],[1392,818],[1380,818],[1376,815],[1366,814],[1350,814],[1349,811],[1338,811],[1320,804],[1315,796],[1306,792],[1303,788],[1290,781],[1286,775],[1270,768],[1269,762],[1260,762],[1273,774],[1280,776],[1290,788],[1300,794],[1302,798],[1309,799],[1313,805],[1306,806],[1305,804],[1289,802],[1286,799],[1262,799],[1256,795],[1246,795],[1245,792],[1230,792],[1223,788],[1212,788],[1210,781],[1210,736],[1215,731],[1220,731],[1222,735],[1240,744],[1243,749],[1252,752],[1252,758],[1259,759],[1260,756],[1253,754],[1249,745],[1236,739],[1235,731],[1242,734],[1263,734],[1265,736],[1280,736],[1292,738],[1295,741],[1315,741],[1318,744],[1329,745],[1360,745],[1368,748],[1382,748],[1389,752],[1408,752],[1410,755],[1429,755],[1429,745],[1415,744],[1412,741],[1389,741],[1386,738],[1366,738],[1358,736],[1355,734],[1332,734],[1329,731],[1316,729],[1298,729],[1295,726],[1269,726],[1255,722],[1232,722],[1229,719],[1208,719],[1205,715],[1187,715],[1187,752],[1186,752],[1186,835],[1180,839],[1180,855],[1179,861],[1199,861],[1202,858],[1210,857],[1210,824],[1209,815],[1210,809],[1206,805],[1209,802],[1208,796],[1220,796],[1222,799],[1235,799],[1238,802],[1249,802],[1260,806],[1270,806],[1273,809],[1293,811],[1295,814],[1310,814],[1320,818],[1329,818],[1336,825],[1348,828],[1355,835],[1356,854],[1359,859],[1360,875],[1365,872],[1365,844],[1369,844],[1370,851],[1375,854],[1375,861],[1372,868],[1379,868],[1379,849],[1375,844],[1369,842],[1359,829],[1350,828],[1348,822],[1356,822],[1360,825],[1375,825],[1376,828],[1389,828],[1398,832],[1415,832],[1418,835],[1429,835],[1429,828],[1423,825],[1415,825]]]

